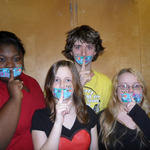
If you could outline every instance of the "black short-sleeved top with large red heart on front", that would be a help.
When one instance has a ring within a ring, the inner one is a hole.
[[[97,123],[97,116],[89,106],[87,106],[87,111],[90,118],[90,122],[87,125],[81,124],[76,118],[71,129],[62,126],[59,148],[61,147],[62,149],[74,149],[75,146],[78,146],[78,149],[81,150],[89,148],[91,142],[90,131],[93,127],[95,127]],[[50,120],[50,109],[44,108],[37,110],[34,113],[31,130],[44,131],[48,137],[53,125],[54,123]],[[72,145],[69,145],[70,141],[73,143]],[[67,145],[69,145],[69,147],[67,147]]]

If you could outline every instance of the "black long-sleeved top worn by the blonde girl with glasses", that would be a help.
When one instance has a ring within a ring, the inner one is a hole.
[[[102,112],[103,111],[98,114],[98,117],[100,117]],[[113,135],[111,135],[110,139],[118,139],[119,137],[120,139],[116,142],[114,142],[113,140],[108,150],[150,150],[150,118],[147,116],[145,111],[137,104],[133,107],[128,115],[144,133],[143,141],[145,145],[141,142],[140,135],[138,134],[138,136],[136,136],[136,129],[129,129],[128,127],[117,121],[114,133]],[[99,129],[100,125],[98,123],[98,132]],[[100,138],[99,149],[106,150],[104,144],[101,143]]]

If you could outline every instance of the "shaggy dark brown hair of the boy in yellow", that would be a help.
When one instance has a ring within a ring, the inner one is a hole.
[[[67,32],[65,50],[63,50],[62,53],[66,58],[72,61],[74,61],[74,57],[70,54],[70,52],[72,51],[72,47],[76,41],[85,42],[95,46],[96,55],[94,55],[92,61],[95,61],[99,54],[104,51],[99,32],[95,31],[88,25],[82,25]]]

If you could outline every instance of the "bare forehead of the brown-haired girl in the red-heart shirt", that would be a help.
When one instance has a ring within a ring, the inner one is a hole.
[[[70,77],[72,78],[71,70],[68,67],[59,67],[56,73],[56,77],[65,78]]]

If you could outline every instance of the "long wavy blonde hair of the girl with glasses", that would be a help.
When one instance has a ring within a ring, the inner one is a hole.
[[[118,115],[119,108],[121,106],[121,102],[118,99],[117,95],[117,89],[118,89],[118,78],[123,74],[123,73],[131,73],[133,74],[138,82],[141,84],[143,88],[143,100],[141,102],[141,108],[148,114],[150,112],[150,99],[148,98],[148,91],[147,87],[144,81],[144,78],[140,74],[139,71],[137,71],[134,68],[124,68],[120,70],[116,75],[114,76],[112,83],[113,83],[113,89],[112,89],[112,96],[109,101],[108,107],[106,110],[101,114],[100,117],[100,136],[101,136],[101,142],[105,145],[106,149],[108,149],[109,146],[115,145],[116,142],[120,142],[119,139],[115,139],[112,136],[114,134],[114,130],[116,127],[116,117]],[[138,128],[137,129],[137,134],[140,133],[141,135],[141,141],[142,141],[142,131]],[[124,133],[122,133],[121,136],[123,136]],[[120,138],[121,138],[120,136]],[[143,141],[142,141],[143,142]],[[120,143],[121,144],[121,143]]]

